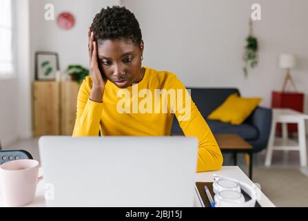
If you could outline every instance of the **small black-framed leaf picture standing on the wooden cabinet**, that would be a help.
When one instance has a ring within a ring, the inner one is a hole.
[[[54,81],[59,70],[59,58],[56,52],[39,51],[35,53],[35,79]]]

